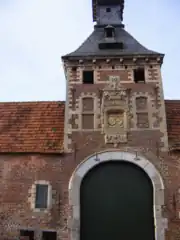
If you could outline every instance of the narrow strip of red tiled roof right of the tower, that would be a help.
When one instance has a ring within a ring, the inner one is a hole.
[[[171,147],[180,147],[180,100],[165,100],[168,139]]]

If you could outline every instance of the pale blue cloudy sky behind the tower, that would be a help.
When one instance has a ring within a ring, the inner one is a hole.
[[[166,99],[180,99],[179,0],[125,0],[125,29],[165,54]],[[61,56],[93,31],[91,0],[0,0],[0,101],[65,100]]]

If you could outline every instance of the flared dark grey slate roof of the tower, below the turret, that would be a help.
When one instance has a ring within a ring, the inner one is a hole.
[[[123,56],[123,55],[163,55],[142,46],[135,38],[133,38],[124,28],[116,27],[115,36],[117,42],[123,42],[124,49],[108,49],[100,50],[98,44],[104,40],[104,29],[100,27],[94,28],[91,35],[83,42],[83,44],[74,52],[63,56],[68,57],[86,57],[86,56]]]

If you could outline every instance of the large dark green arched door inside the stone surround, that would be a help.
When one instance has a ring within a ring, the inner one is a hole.
[[[153,186],[132,163],[102,163],[80,190],[80,240],[154,240]]]

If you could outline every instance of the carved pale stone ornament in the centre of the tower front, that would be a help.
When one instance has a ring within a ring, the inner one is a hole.
[[[127,89],[121,85],[119,76],[110,76],[107,86],[103,89],[101,117],[105,143],[127,142]]]

